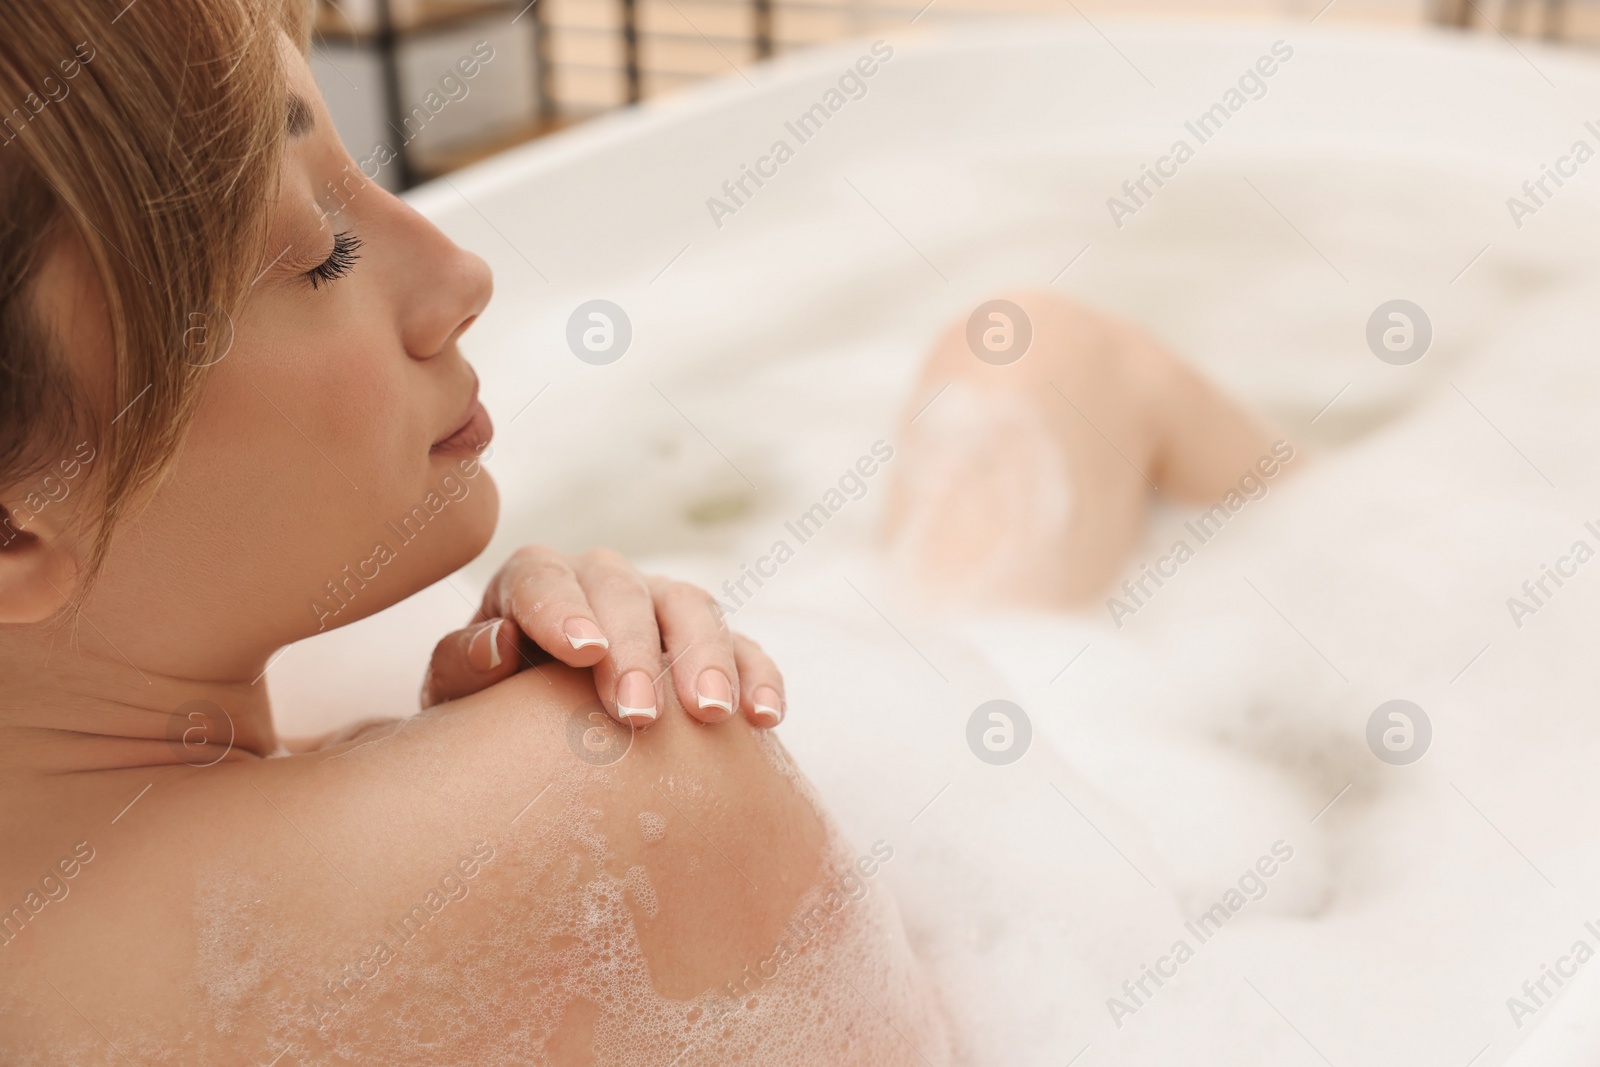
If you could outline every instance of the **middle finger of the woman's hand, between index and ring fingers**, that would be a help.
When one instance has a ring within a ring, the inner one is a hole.
[[[578,581],[600,629],[611,637],[606,657],[595,664],[600,702],[621,723],[656,721],[666,707],[661,632],[643,576],[616,552],[597,549],[582,555]]]

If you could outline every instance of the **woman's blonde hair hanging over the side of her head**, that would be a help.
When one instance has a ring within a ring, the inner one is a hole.
[[[278,30],[304,51],[309,0],[0,0],[0,491],[88,442],[93,576],[117,517],[170,467],[264,266]],[[109,390],[74,381],[35,314],[69,234],[104,294]],[[104,411],[86,400],[107,394]],[[0,522],[3,547],[18,536],[3,504]]]

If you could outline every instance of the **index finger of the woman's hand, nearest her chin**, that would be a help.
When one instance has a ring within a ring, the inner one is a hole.
[[[560,552],[517,549],[483,593],[485,616],[509,616],[534,645],[568,667],[594,667],[610,641],[578,574]]]

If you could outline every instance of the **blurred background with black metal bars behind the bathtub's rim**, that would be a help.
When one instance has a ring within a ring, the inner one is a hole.
[[[1450,27],[1600,43],[1600,0],[320,0],[314,70],[392,190],[811,45],[1056,16]]]

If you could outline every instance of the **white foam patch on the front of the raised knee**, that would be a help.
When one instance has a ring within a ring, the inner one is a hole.
[[[955,381],[912,426],[896,566],[949,595],[1034,593],[1064,581],[1072,475],[1038,406]]]

